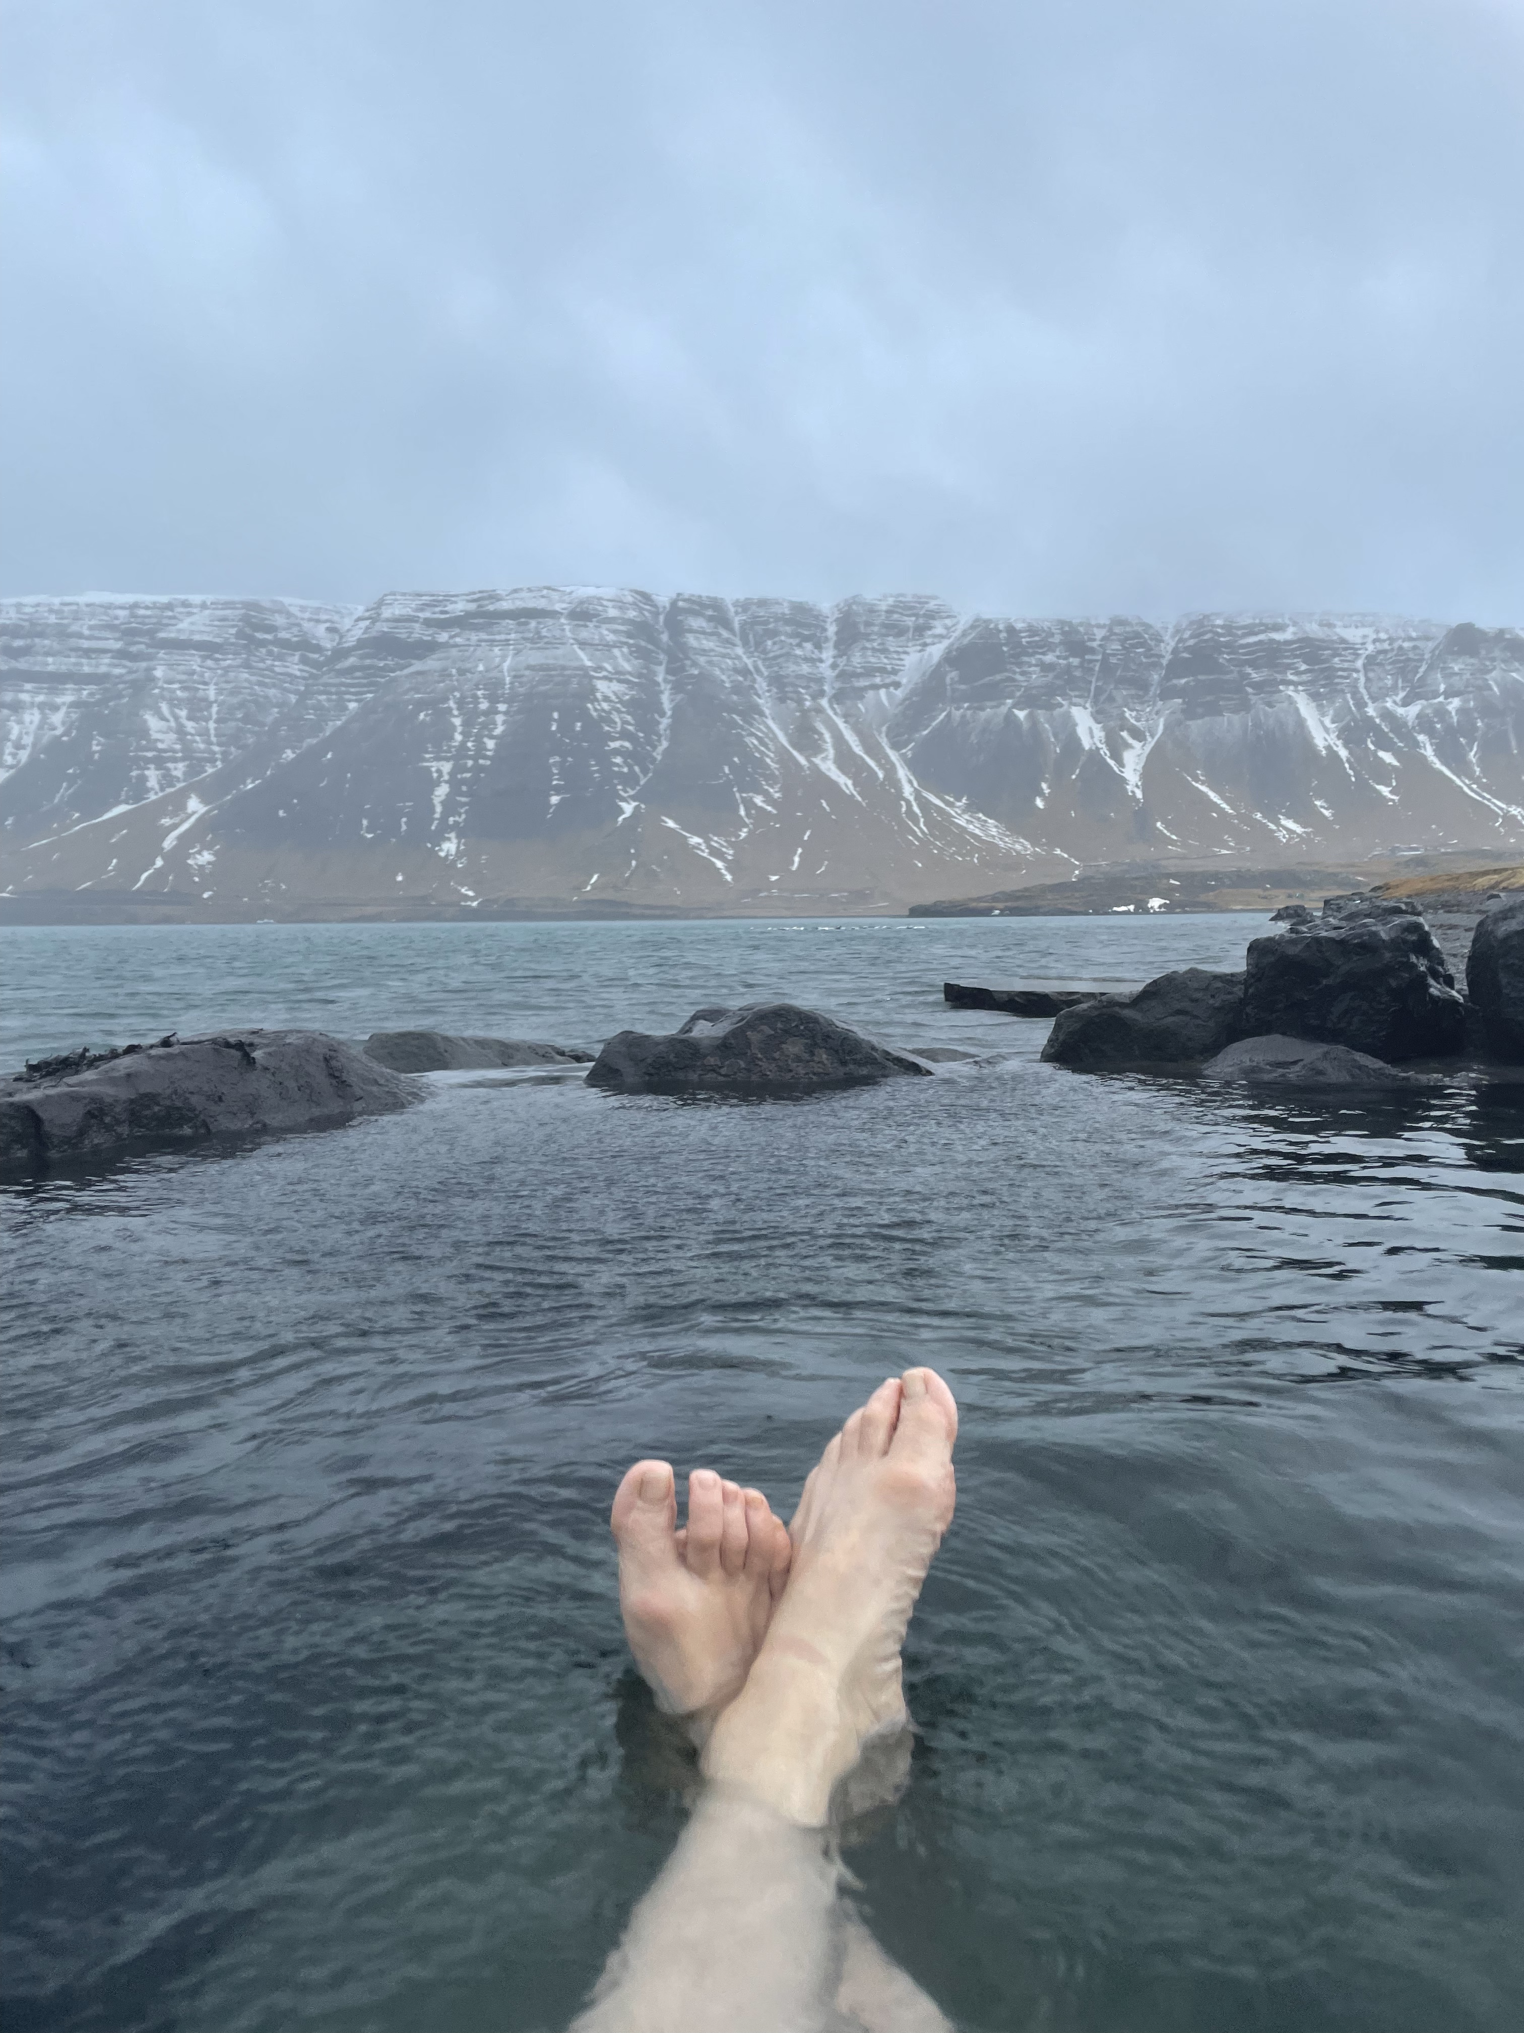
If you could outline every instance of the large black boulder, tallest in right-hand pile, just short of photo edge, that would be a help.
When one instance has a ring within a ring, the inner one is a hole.
[[[1376,1059],[1459,1051],[1465,1002],[1433,933],[1412,911],[1372,909],[1252,939],[1242,1035],[1319,1039]]]

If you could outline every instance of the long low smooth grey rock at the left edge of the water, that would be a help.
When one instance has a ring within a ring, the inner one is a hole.
[[[213,1136],[335,1128],[419,1100],[321,1031],[226,1031],[39,1059],[0,1082],[0,1177],[175,1151]]]

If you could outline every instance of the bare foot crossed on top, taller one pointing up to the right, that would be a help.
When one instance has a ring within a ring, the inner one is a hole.
[[[904,1724],[900,1645],[953,1517],[957,1405],[935,1370],[890,1376],[805,1484],[792,1567],[703,1769],[815,1828],[876,1730]]]

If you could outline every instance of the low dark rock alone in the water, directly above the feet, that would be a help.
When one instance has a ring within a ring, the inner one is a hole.
[[[681,1031],[620,1031],[587,1073],[616,1094],[744,1094],[839,1088],[925,1065],[795,1002],[695,1010]]]

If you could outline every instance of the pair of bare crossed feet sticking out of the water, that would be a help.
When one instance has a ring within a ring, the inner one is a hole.
[[[916,1368],[847,1419],[788,1527],[760,1490],[695,1468],[679,1529],[666,1462],[624,1476],[630,1651],[709,1779],[817,1828],[868,1736],[904,1722],[900,1645],[953,1517],[955,1437],[953,1393]]]

